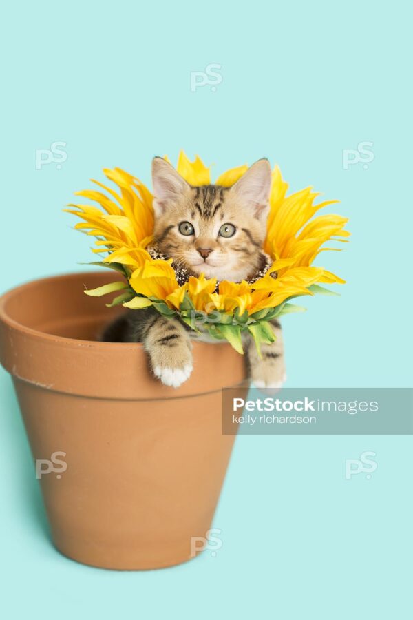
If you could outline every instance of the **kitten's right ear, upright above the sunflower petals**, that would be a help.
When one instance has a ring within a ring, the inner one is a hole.
[[[266,218],[271,181],[271,165],[268,159],[259,159],[237,180],[231,191],[244,207],[253,210],[255,217]]]

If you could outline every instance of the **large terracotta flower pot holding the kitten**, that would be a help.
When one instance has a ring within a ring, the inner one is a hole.
[[[228,344],[195,343],[191,378],[162,385],[140,344],[96,341],[119,309],[83,290],[105,282],[76,273],[6,293],[0,361],[56,547],[103,568],[171,566],[211,526],[234,440],[222,435],[221,389],[244,380],[244,360]]]

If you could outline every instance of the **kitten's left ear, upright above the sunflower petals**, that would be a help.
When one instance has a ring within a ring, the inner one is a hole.
[[[176,200],[189,187],[186,180],[162,157],[152,160],[153,209],[155,214],[165,213],[169,203]]]

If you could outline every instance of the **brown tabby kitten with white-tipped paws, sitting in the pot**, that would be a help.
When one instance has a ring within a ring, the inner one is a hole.
[[[189,275],[240,282],[260,271],[265,256],[271,167],[260,159],[231,187],[192,187],[167,161],[153,158],[153,248]],[[262,345],[262,358],[252,338],[244,349],[257,387],[279,387],[285,380],[281,326],[272,322],[277,340]],[[154,375],[180,386],[192,371],[191,339],[197,335],[178,320],[154,309],[129,311],[105,329],[107,342],[142,342]],[[211,339],[212,340],[212,339]],[[213,342],[217,342],[214,340]]]

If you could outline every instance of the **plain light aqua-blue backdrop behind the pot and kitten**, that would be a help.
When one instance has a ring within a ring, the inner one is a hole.
[[[16,2],[3,9],[1,291],[92,260],[72,192],[183,147],[227,167],[268,156],[350,217],[323,254],[341,298],[284,320],[288,386],[411,385],[409,3]],[[222,83],[190,89],[191,70]],[[35,168],[36,149],[67,160]],[[343,169],[343,149],[374,159]],[[3,617],[411,617],[411,438],[240,437],[214,527],[222,548],[120,573],[61,557],[10,378],[0,371]],[[345,459],[377,453],[369,480]]]

